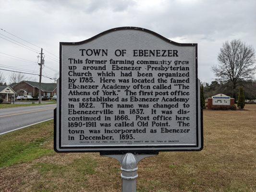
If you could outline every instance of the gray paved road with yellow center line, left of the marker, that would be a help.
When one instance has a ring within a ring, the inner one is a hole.
[[[0,134],[53,118],[53,105],[0,109]]]

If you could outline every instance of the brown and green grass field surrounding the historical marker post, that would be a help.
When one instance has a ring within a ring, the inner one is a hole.
[[[0,192],[121,192],[119,163],[57,154],[53,122],[0,136]],[[204,111],[201,152],[162,152],[139,164],[137,192],[255,192],[256,105]]]

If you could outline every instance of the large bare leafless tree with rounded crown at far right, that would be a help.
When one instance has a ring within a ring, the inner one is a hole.
[[[217,80],[232,82],[233,97],[236,88],[244,81],[253,79],[256,72],[255,50],[240,39],[223,43],[218,55],[219,65],[212,68]]]

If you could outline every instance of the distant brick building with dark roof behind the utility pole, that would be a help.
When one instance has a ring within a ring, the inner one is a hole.
[[[17,96],[38,96],[39,95],[39,83],[33,81],[21,81],[10,85],[16,92]],[[55,83],[41,83],[41,95],[42,96],[54,96],[56,95],[57,84]]]

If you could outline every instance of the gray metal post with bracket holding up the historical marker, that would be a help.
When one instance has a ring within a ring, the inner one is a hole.
[[[137,191],[137,170],[138,163],[140,160],[150,157],[157,156],[158,154],[145,154],[145,155],[134,155],[127,153],[124,155],[102,155],[117,159],[121,163],[121,178],[122,178],[122,192],[136,192]]]

